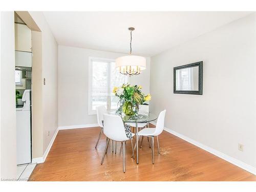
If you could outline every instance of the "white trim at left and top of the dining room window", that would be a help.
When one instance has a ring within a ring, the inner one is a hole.
[[[93,61],[101,61],[101,62],[115,62],[115,59],[110,58],[100,58],[100,57],[89,57],[89,66],[88,66],[88,115],[96,115],[96,110],[92,110],[92,74],[93,74]],[[109,76],[108,76],[109,77]],[[127,78],[127,83],[129,83],[129,78]],[[110,81],[109,81],[110,82]],[[110,86],[109,86],[110,87]],[[116,110],[111,110],[116,111]]]

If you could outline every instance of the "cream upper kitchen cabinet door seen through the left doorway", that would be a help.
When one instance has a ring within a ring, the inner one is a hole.
[[[15,50],[32,52],[31,30],[24,24],[15,24]]]

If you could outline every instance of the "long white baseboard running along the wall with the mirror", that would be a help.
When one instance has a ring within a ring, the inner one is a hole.
[[[155,122],[151,122],[151,123],[156,125]],[[181,139],[183,139],[183,140],[193,144],[193,145],[196,145],[196,146],[202,148],[203,150],[205,150],[205,151],[207,151],[207,152],[209,152],[211,154],[216,155],[217,157],[220,157],[221,159],[224,159],[225,161],[228,161],[229,163],[232,163],[232,164],[234,164],[234,165],[236,165],[236,166],[238,166],[238,167],[240,167],[242,169],[247,170],[247,172],[250,172],[250,173],[256,175],[256,168],[251,166],[251,165],[248,165],[248,164],[246,164],[246,163],[244,163],[244,162],[242,162],[242,161],[240,161],[238,159],[230,157],[230,156],[228,156],[228,155],[226,155],[226,154],[224,154],[222,152],[219,152],[219,151],[215,150],[214,148],[211,148],[211,147],[209,147],[209,146],[207,146],[205,144],[202,144],[202,143],[200,143],[200,142],[198,142],[198,141],[196,141],[194,139],[191,139],[191,138],[189,138],[187,136],[179,134],[179,133],[177,133],[177,132],[175,132],[175,131],[167,128],[167,127],[164,127],[164,130],[166,132],[168,132],[168,133],[171,133],[171,134],[173,134],[173,135],[175,135],[175,136],[177,136],[177,137],[179,137],[179,138],[181,138]]]

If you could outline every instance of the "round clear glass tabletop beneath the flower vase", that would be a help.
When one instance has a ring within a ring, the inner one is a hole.
[[[116,115],[115,112],[111,112],[110,114]],[[125,123],[136,123],[136,122],[137,123],[146,123],[146,122],[156,120],[157,117],[158,117],[157,115],[152,114],[152,113],[143,114],[143,115],[138,114],[138,115],[134,115],[134,116],[127,116],[127,115],[122,115],[121,116],[123,122],[125,122]]]

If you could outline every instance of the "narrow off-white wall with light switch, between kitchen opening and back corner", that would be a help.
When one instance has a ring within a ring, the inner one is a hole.
[[[29,13],[42,33],[42,78],[46,79],[42,87],[43,155],[58,127],[58,45],[44,14]]]

